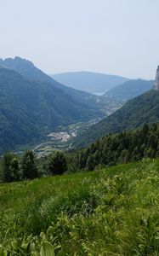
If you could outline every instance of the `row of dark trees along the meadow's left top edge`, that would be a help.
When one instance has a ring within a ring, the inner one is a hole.
[[[54,151],[44,159],[37,159],[37,155],[31,150],[26,150],[20,156],[13,152],[5,153],[0,166],[0,183],[61,175],[67,171],[67,165],[63,151]]]

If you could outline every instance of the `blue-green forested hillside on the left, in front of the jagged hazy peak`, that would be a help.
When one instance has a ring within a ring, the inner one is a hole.
[[[103,116],[52,84],[25,79],[0,68],[0,153],[39,141],[59,125]]]

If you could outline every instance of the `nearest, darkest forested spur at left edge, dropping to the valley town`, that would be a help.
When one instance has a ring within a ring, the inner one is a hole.
[[[0,153],[39,140],[40,125],[36,116],[0,90]]]

